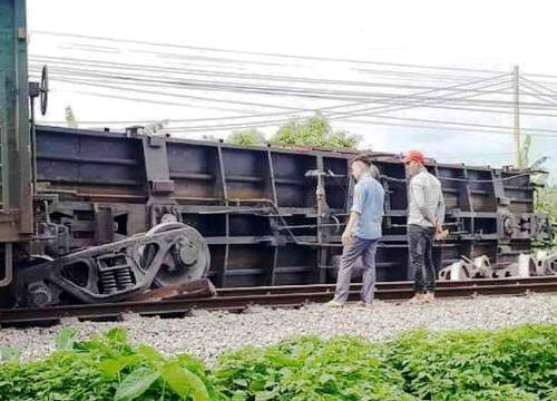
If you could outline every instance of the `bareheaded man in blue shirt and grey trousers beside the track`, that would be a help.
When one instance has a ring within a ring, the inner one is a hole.
[[[352,270],[359,257],[362,258],[363,276],[361,304],[371,306],[375,285],[375,253],[381,238],[383,219],[384,189],[375,179],[377,167],[365,156],[351,160],[351,169],[356,185],[350,218],[342,234],[342,256],[334,299],[328,306],[343,306],[346,302]]]

